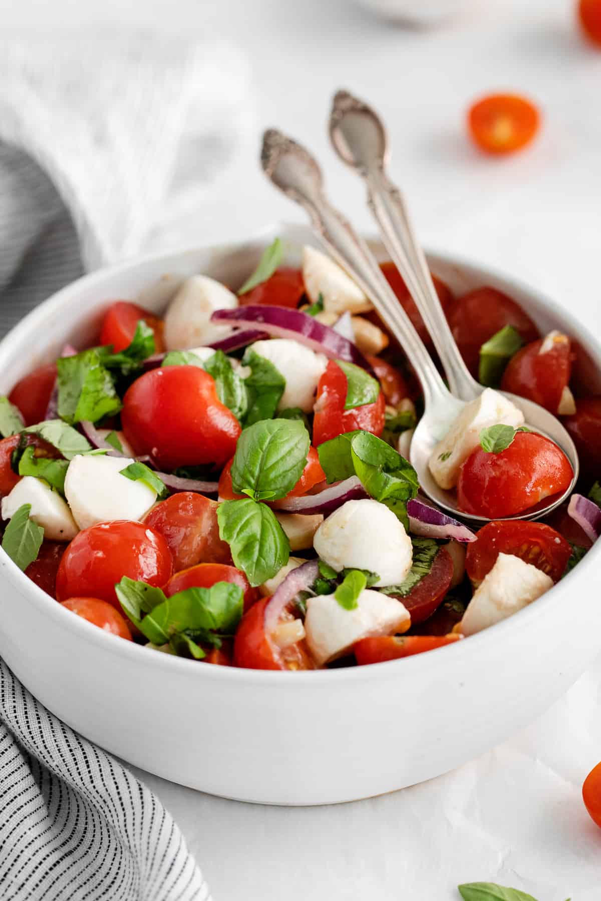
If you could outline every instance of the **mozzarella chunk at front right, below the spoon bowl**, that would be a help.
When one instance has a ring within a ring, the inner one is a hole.
[[[464,635],[481,632],[532,604],[551,587],[553,580],[542,569],[501,553],[474,592],[457,631]]]

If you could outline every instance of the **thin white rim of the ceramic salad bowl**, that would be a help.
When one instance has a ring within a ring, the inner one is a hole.
[[[292,228],[297,228],[298,224],[299,223],[293,223]],[[287,226],[284,225],[284,223],[275,223],[260,230],[260,232],[252,233],[246,237],[233,239],[232,241],[223,241],[215,245],[191,245],[181,250],[174,249],[163,251],[161,253],[144,254],[113,266],[98,269],[95,272],[77,278],[76,281],[60,288],[58,292],[36,306],[29,314],[24,316],[19,323],[16,323],[14,327],[6,333],[2,341],[0,341],[0,355],[9,342],[11,345],[14,345],[15,342],[23,341],[23,337],[39,327],[47,317],[59,311],[62,305],[68,301],[68,298],[73,294],[77,295],[77,292],[83,287],[90,287],[95,283],[102,283],[105,278],[118,278],[120,275],[124,275],[128,270],[141,268],[145,265],[160,265],[163,261],[167,264],[170,260],[181,259],[187,255],[196,255],[199,252],[232,251],[244,244],[250,245],[252,242],[256,243],[265,240],[278,227],[285,228]],[[378,240],[377,235],[368,234],[367,237],[368,239],[374,238],[375,240]],[[542,305],[550,312],[551,316],[556,315],[559,318],[565,317],[566,311],[555,301],[543,295],[521,278],[514,278],[513,276],[506,274],[502,269],[487,264],[480,264],[473,259],[469,259],[469,257],[456,255],[454,253],[446,253],[440,250],[429,249],[426,251],[426,256],[440,260],[442,263],[459,268],[460,270],[468,268],[486,272],[487,275],[493,279],[511,284],[516,291],[533,296],[539,305]],[[587,326],[577,323],[574,332],[576,333],[578,340],[583,338],[586,339],[587,345],[596,351],[596,356],[601,360],[601,341],[588,330]],[[599,543],[601,545],[601,542]],[[581,576],[579,575],[578,578],[586,578],[588,568],[596,564],[596,557],[600,553],[601,547],[598,549],[593,547],[587,552],[585,558],[578,563],[578,573],[581,573]],[[14,561],[11,560],[8,555],[2,555],[2,558],[0,559],[0,572],[5,574],[9,582],[12,582],[15,587],[18,587],[22,594],[31,598],[32,602],[42,615],[50,616],[55,619],[62,628],[66,628],[69,632],[76,634],[82,640],[96,644],[97,647],[104,649],[110,654],[126,660],[131,660],[132,663],[142,663],[143,661],[146,661],[146,666],[156,665],[159,669],[163,669],[166,672],[180,673],[184,676],[190,676],[196,671],[196,673],[202,675],[197,675],[194,678],[232,679],[234,681],[244,680],[247,684],[263,686],[272,686],[275,684],[275,680],[287,678],[290,680],[290,684],[296,685],[299,688],[305,686],[307,682],[310,682],[312,685],[316,683],[329,684],[332,682],[342,685],[344,683],[354,682],[358,679],[362,680],[363,678],[368,678],[370,680],[375,679],[377,681],[394,678],[397,672],[400,674],[402,671],[400,668],[404,668],[405,671],[407,668],[410,668],[413,672],[419,672],[420,669],[432,668],[434,665],[439,666],[440,662],[436,663],[436,661],[441,660],[439,655],[442,653],[454,653],[456,655],[456,660],[459,660],[458,655],[461,655],[463,660],[467,660],[467,654],[473,653],[474,655],[477,655],[478,653],[483,653],[486,651],[490,642],[503,641],[504,634],[505,638],[507,635],[510,635],[514,631],[516,624],[517,627],[524,627],[531,620],[544,615],[544,611],[547,607],[562,603],[563,596],[566,590],[569,590],[574,578],[573,573],[570,572],[567,577],[564,577],[559,583],[554,585],[549,593],[540,597],[536,604],[527,605],[524,609],[518,611],[517,614],[507,617],[500,623],[496,623],[494,626],[490,626],[475,635],[470,635],[469,642],[452,642],[452,644],[446,647],[443,646],[442,648],[435,649],[434,652],[430,651],[427,654],[414,654],[399,660],[388,660],[385,663],[371,664],[369,666],[288,671],[281,669],[243,669],[226,666],[203,667],[198,666],[198,661],[196,660],[176,657],[175,655],[161,651],[150,654],[149,649],[144,645],[137,644],[136,642],[128,642],[120,639],[117,635],[107,633],[103,629],[99,629],[93,623],[88,623],[87,620],[83,619],[81,616],[74,615],[71,611],[62,607],[58,601],[54,600],[54,598],[48,595],[41,587],[32,582],[32,580],[16,566]],[[466,644],[472,651],[466,651]],[[433,653],[434,657],[432,656]],[[154,660],[154,663],[152,663],[152,660]]]

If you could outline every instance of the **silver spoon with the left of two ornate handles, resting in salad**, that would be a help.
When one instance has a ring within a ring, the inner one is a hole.
[[[365,146],[367,147],[367,144]],[[423,492],[454,515],[473,522],[486,523],[486,517],[463,514],[457,507],[455,496],[436,484],[428,468],[428,460],[438,441],[449,431],[466,401],[478,396],[483,388],[473,382],[469,374],[469,379],[475,386],[474,393],[469,397],[454,396],[445,386],[433,359],[405,314],[405,310],[398,303],[368,244],[354,232],[351,223],[334,209],[324,196],[321,169],[311,154],[282,132],[269,129],[263,136],[261,164],[273,184],[305,208],[316,236],[333,259],[346,269],[351,278],[369,296],[378,314],[405,350],[420,379],[424,413],[415,429],[410,453]],[[511,399],[524,412],[526,422],[533,429],[542,432],[560,445],[574,469],[575,481],[578,476],[578,455],[568,432],[555,416],[547,413],[539,405],[522,397],[511,396]],[[569,491],[572,487],[573,485]],[[539,505],[526,511],[519,518],[536,519],[549,513],[568,496],[569,491],[556,497],[551,504]]]

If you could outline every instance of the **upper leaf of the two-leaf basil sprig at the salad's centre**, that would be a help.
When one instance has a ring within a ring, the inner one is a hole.
[[[245,429],[232,462],[236,495],[254,500],[287,496],[305,469],[309,435],[298,420],[267,419]]]

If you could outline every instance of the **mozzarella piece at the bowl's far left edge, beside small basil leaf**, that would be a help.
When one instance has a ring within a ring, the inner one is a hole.
[[[11,519],[23,504],[32,505],[30,519],[41,525],[44,538],[51,542],[70,542],[79,532],[68,505],[43,479],[24,476],[2,498],[2,518]]]

